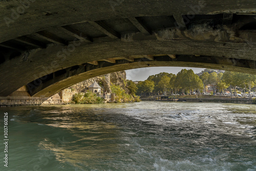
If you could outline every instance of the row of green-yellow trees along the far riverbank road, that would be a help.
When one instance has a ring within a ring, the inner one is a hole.
[[[211,94],[229,91],[238,97],[238,91],[244,92],[251,97],[251,92],[256,90],[256,75],[225,71],[224,73],[202,71],[198,76],[193,70],[181,70],[177,75],[169,73],[159,73],[149,76],[145,81],[137,84],[136,95],[179,95],[179,94],[206,94],[210,88]]]

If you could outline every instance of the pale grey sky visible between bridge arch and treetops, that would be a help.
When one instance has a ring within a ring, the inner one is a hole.
[[[184,68],[184,67],[148,67],[148,68],[138,68],[133,70],[126,70],[126,78],[133,81],[144,81],[150,75],[159,74],[161,72],[167,72],[172,74],[177,74],[182,69],[192,69],[195,74],[200,73],[204,68]]]

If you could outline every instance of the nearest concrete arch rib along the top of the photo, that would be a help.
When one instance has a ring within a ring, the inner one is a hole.
[[[193,11],[191,7],[195,8],[197,14],[218,14],[223,12],[255,14],[256,12],[256,2],[254,0],[28,0],[21,2],[24,3],[20,3],[19,1],[1,1],[0,18],[2,21],[0,22],[0,42],[41,30],[87,21],[116,19],[127,16],[185,15],[189,11]],[[197,10],[199,5],[202,8]],[[10,27],[7,26],[4,17],[9,17],[13,20],[9,25]]]

